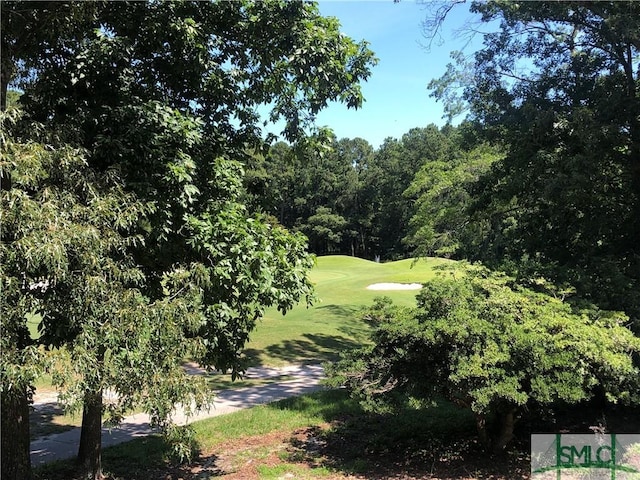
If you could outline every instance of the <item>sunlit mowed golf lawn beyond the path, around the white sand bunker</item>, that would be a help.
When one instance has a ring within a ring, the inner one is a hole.
[[[374,283],[423,283],[433,278],[440,258],[376,263],[348,256],[318,257],[309,275],[317,301],[299,304],[283,316],[269,309],[251,335],[249,365],[281,366],[333,360],[339,352],[367,341],[370,327],[359,312],[376,297],[412,305],[418,290],[367,290]]]

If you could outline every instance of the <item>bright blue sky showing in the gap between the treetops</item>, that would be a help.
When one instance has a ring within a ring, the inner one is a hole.
[[[369,80],[362,85],[366,102],[359,110],[332,104],[317,117],[338,138],[362,137],[374,148],[386,137],[400,138],[413,127],[444,125],[442,105],[429,97],[427,84],[440,77],[450,63],[449,53],[473,51],[480,39],[467,40],[456,30],[472,17],[466,4],[448,17],[441,45],[425,48],[422,21],[426,6],[408,0],[320,0],[324,16],[337,17],[342,32],[355,41],[367,40],[379,59]]]

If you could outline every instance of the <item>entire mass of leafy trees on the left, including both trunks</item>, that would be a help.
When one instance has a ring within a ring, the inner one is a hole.
[[[29,476],[18,407],[38,342],[64,348],[56,380],[83,403],[79,460],[99,478],[103,412],[136,403],[164,424],[201,404],[185,356],[235,376],[264,309],[310,295],[306,239],[247,210],[240,161],[265,145],[258,107],[304,145],[329,101],[362,103],[374,58],[304,2],[2,2],[1,18],[2,109],[12,85],[25,112],[0,165],[2,436],[26,444],[2,449],[2,476]]]

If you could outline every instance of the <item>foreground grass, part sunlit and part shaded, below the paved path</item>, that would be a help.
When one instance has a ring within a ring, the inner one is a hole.
[[[328,424],[331,426],[327,427]],[[218,448],[228,442],[272,432],[286,434],[300,428],[314,429],[316,438],[327,446],[325,451],[309,452],[291,440],[285,449],[279,450],[282,464],[259,468],[261,478],[269,479],[286,473],[298,474],[296,478],[322,478],[337,471],[370,472],[380,458],[393,454],[390,448],[423,454],[425,447],[436,447],[438,455],[446,454],[441,449],[443,442],[468,437],[474,423],[469,412],[448,402],[407,407],[397,415],[376,415],[364,412],[344,390],[328,390],[213,417],[192,427],[197,447],[210,459],[223,453]],[[242,463],[247,455],[259,461],[261,455],[272,451],[273,446],[270,449],[261,445],[251,451],[240,449],[236,454],[241,456]],[[170,445],[161,437],[150,436],[105,448],[103,465],[106,472],[118,479],[151,478],[150,470],[160,474],[163,469],[179,468],[172,467],[170,457]],[[313,468],[302,469],[301,465]],[[38,480],[77,478],[71,460],[45,465],[35,473]]]

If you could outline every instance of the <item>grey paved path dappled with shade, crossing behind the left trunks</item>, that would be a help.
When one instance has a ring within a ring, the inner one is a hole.
[[[198,373],[197,367],[189,366],[188,368],[192,373]],[[174,422],[179,425],[185,425],[197,420],[235,412],[243,408],[255,407],[256,405],[311,393],[321,388],[320,380],[324,378],[324,372],[319,365],[284,368],[258,367],[247,370],[245,378],[277,379],[282,376],[294,378],[275,381],[257,387],[223,390],[217,393],[215,402],[210,410],[187,417],[182,409],[178,409],[173,417]],[[57,403],[57,394],[55,393],[36,395],[34,398],[34,408],[36,409],[46,408],[47,405],[52,406],[55,403]],[[104,428],[102,430],[102,446],[108,447],[151,433],[157,433],[157,430],[151,428],[148,415],[143,413],[135,414],[126,417],[117,428]],[[79,427],[33,440],[31,442],[31,463],[35,466],[53,460],[74,457],[78,452],[79,441]]]

